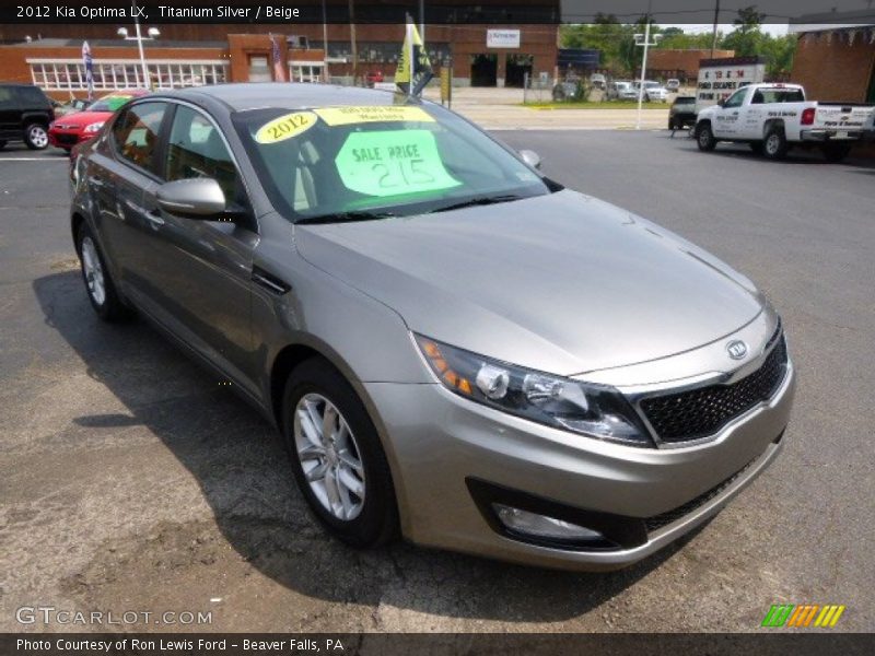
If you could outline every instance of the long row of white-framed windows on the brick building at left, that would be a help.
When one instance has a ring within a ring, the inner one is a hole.
[[[28,59],[34,84],[44,91],[88,91],[85,66],[74,59]],[[137,59],[94,61],[92,79],[95,91],[117,89],[182,89],[228,81],[228,62],[147,61],[149,83],[143,80],[142,65]]]

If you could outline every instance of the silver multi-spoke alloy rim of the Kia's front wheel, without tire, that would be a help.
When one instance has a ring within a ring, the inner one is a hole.
[[[304,478],[322,506],[350,522],[364,507],[365,479],[355,436],[340,410],[319,394],[294,410],[294,443]]]

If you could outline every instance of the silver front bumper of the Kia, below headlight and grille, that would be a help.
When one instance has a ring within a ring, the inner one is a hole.
[[[467,401],[440,384],[365,387],[380,408],[405,537],[525,564],[614,570],[705,522],[772,461],[782,447],[795,374],[789,363],[772,398],[713,440],[673,449],[635,448],[558,431]],[[481,511],[482,499],[475,500],[482,483],[584,514],[638,522],[643,532],[612,550],[514,539],[497,530]]]

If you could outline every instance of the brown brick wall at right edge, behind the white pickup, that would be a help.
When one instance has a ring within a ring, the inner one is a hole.
[[[812,36],[800,37],[791,81],[805,86],[814,101],[865,102],[875,66],[875,44],[860,35],[853,45],[839,35],[831,42],[822,33],[817,39]]]

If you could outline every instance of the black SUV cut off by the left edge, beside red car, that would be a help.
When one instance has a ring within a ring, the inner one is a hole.
[[[43,90],[33,84],[0,83],[0,148],[24,141],[32,150],[48,145],[48,126],[55,109]]]

